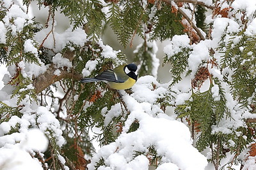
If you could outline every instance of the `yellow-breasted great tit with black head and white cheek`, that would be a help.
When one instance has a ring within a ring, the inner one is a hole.
[[[136,83],[137,78],[137,66],[135,64],[124,64],[115,67],[115,69],[103,71],[101,74],[95,76],[95,78],[83,78],[81,83],[104,81],[112,89],[124,90],[131,88]]]

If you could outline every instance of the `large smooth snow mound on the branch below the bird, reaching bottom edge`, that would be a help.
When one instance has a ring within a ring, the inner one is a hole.
[[[130,118],[138,120],[140,127],[134,132],[123,132],[114,143],[100,148],[89,164],[89,169],[93,169],[100,157],[106,160],[106,166],[111,169],[122,169],[134,161],[132,160],[134,150],[147,152],[150,146],[154,146],[163,163],[173,162],[180,169],[204,169],[207,160],[191,145],[190,132],[186,125],[177,120],[151,117],[132,97],[124,97],[125,101],[130,101],[128,107],[132,110],[128,120]],[[135,103],[136,107],[134,107]],[[124,129],[128,129],[126,124]],[[145,162],[144,156],[138,159],[140,162]],[[148,169],[148,164],[141,169]]]

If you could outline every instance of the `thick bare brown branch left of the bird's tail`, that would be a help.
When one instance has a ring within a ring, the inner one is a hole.
[[[68,50],[67,52],[63,53],[63,57],[72,61],[74,59],[74,52]],[[56,69],[58,68],[56,68],[54,64],[51,64],[51,66],[47,69],[47,71],[45,71],[45,73],[40,74],[38,77],[35,78],[35,80],[33,81],[33,85],[35,87],[36,94],[42,92],[42,90],[49,87],[49,85],[63,78],[80,80],[82,77],[81,74],[70,73],[67,70],[61,70],[60,76],[56,76],[54,74],[54,71],[56,71]]]

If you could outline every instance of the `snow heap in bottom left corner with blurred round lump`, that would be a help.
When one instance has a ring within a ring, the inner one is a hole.
[[[1,127],[8,126],[1,124]],[[3,129],[3,128],[1,128]],[[12,136],[12,138],[10,138]],[[8,137],[8,138],[6,138]],[[0,137],[0,165],[1,169],[43,169],[41,163],[37,159],[33,159],[29,152],[44,152],[48,147],[48,139],[44,133],[38,129],[29,129],[22,133],[13,133],[9,136]],[[12,139],[12,141],[10,140]],[[20,141],[20,143],[17,143]]]

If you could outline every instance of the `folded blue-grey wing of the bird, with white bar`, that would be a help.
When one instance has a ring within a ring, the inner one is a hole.
[[[111,81],[111,82],[116,82],[116,83],[124,83],[124,78],[119,77],[115,74],[115,71],[112,69],[108,69],[106,71],[103,71],[101,74],[98,76],[95,76],[98,80],[105,80],[105,81]]]

